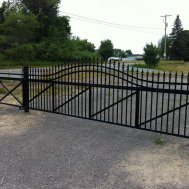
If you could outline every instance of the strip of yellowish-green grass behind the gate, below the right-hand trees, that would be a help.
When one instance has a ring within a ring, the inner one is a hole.
[[[174,71],[174,72],[189,72],[189,62],[184,61],[160,61],[157,66],[148,66],[146,64],[134,64],[134,67],[137,68],[152,68],[157,70],[164,70],[164,71]]]

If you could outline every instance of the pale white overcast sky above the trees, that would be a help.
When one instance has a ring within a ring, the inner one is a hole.
[[[110,39],[114,48],[143,53],[147,43],[158,44],[171,33],[174,20],[180,16],[183,28],[189,30],[188,0],[61,0],[60,15],[70,17],[73,36],[87,39],[98,49],[102,40]]]

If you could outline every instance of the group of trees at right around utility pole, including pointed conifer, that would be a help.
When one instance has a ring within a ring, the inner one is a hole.
[[[172,32],[164,36],[158,43],[158,47],[153,43],[144,47],[144,62],[148,66],[156,66],[160,58],[164,57],[164,46],[166,37],[167,58],[171,60],[189,60],[189,30],[184,30],[179,15],[173,24]]]

